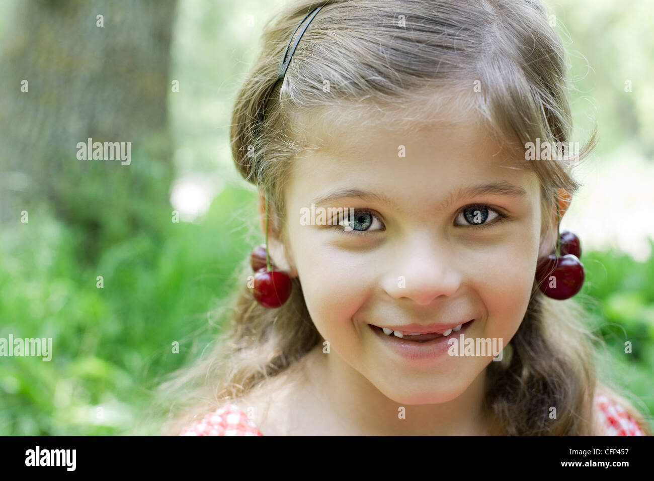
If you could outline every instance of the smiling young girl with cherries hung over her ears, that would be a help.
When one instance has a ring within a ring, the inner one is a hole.
[[[595,135],[566,147],[552,21],[535,0],[332,0],[266,26],[231,137],[267,252],[215,352],[165,385],[190,406],[165,433],[651,434],[564,300],[583,266],[560,217]]]

